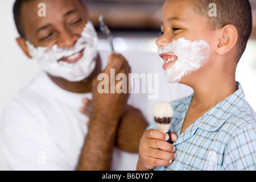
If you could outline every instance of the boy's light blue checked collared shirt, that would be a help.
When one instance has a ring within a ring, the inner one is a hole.
[[[174,115],[170,130],[177,158],[154,170],[256,170],[255,111],[245,100],[241,84],[231,96],[197,119],[182,134],[193,94],[171,102]],[[148,129],[156,129],[153,122]]]

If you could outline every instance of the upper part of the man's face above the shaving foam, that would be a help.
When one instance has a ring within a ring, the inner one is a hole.
[[[46,17],[38,16],[39,3],[46,4]],[[22,6],[23,30],[35,47],[73,46],[88,19],[79,0],[28,1]]]

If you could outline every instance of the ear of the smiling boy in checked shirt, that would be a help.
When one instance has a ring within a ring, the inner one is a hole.
[[[228,24],[220,29],[220,38],[216,48],[219,55],[224,55],[236,46],[238,39],[237,28]]]

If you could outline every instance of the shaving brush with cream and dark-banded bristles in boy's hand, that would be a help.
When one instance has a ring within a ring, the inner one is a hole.
[[[171,121],[174,109],[168,102],[158,102],[152,109],[153,117],[155,119],[156,127],[159,131],[162,131],[169,135],[167,142],[171,143]]]

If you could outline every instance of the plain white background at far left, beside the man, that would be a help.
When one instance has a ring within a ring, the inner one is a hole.
[[[13,20],[14,0],[0,2],[0,118],[7,100],[9,100],[24,84],[26,84],[39,67],[28,60],[17,46]],[[0,126],[1,127],[1,126]],[[0,170],[6,169],[0,142]]]

